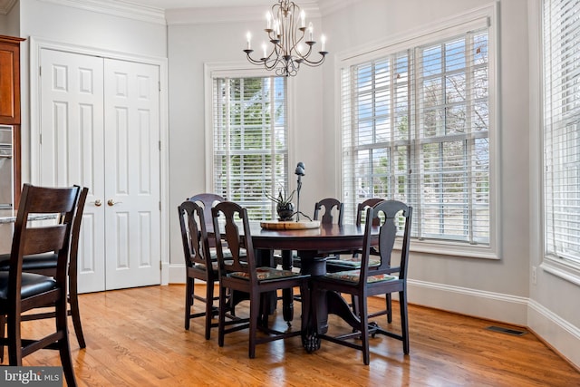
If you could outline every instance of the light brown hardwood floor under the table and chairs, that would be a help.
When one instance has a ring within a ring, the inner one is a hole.
[[[299,337],[260,344],[256,359],[248,359],[246,330],[227,335],[220,348],[217,329],[204,339],[203,319],[183,328],[183,285],[80,295],[80,302],[85,350],[71,333],[80,386],[580,386],[580,372],[534,334],[491,332],[486,328],[497,323],[415,305],[410,355],[401,342],[378,335],[371,365],[364,366],[362,353],[334,343],[305,353]],[[374,309],[381,305],[371,302]],[[279,314],[273,321],[283,327]],[[24,334],[34,334],[47,323],[24,324]],[[58,353],[40,351],[24,365],[60,363]]]

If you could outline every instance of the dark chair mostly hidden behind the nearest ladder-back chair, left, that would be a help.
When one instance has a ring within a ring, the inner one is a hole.
[[[84,212],[84,205],[88,188],[82,188],[74,213],[73,228],[71,232],[71,247],[69,249],[69,295],[68,302],[70,309],[68,315],[73,320],[74,333],[81,348],[86,348],[84,334],[82,333],[81,311],[79,307],[78,294],[78,254],[79,254],[79,238],[81,235],[82,214]],[[58,266],[58,254],[51,252],[46,254],[36,254],[34,256],[24,256],[22,263],[22,270],[26,273],[34,273],[43,276],[56,276],[56,269]],[[8,271],[10,269],[10,254],[0,256],[0,271]],[[42,318],[53,318],[54,312],[44,312],[38,314],[24,314],[22,321],[38,320]],[[0,335],[4,336],[5,319],[0,317]],[[0,353],[0,360],[3,359],[4,352]]]

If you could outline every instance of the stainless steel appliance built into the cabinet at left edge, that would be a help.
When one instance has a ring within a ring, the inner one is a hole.
[[[0,212],[14,208],[14,142],[12,126],[0,125]],[[10,251],[12,225],[0,224],[0,254]]]

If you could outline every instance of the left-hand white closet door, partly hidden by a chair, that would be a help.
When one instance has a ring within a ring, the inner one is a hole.
[[[102,58],[41,52],[40,185],[89,188],[79,240],[79,292],[105,288]],[[97,202],[98,204],[98,202]]]

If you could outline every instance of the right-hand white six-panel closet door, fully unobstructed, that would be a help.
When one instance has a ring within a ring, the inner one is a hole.
[[[107,289],[160,284],[159,67],[105,60],[105,74]]]

